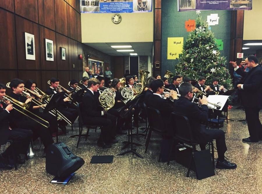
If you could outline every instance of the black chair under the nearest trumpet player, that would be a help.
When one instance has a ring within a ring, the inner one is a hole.
[[[177,114],[177,113],[171,113],[171,119],[174,120],[174,122],[175,122],[175,126],[174,126],[175,138],[179,142],[190,145],[193,148],[192,154],[191,154],[191,157],[190,157],[188,170],[187,170],[187,175],[186,175],[187,177],[189,177],[190,169],[191,169],[192,162],[193,162],[193,155],[194,155],[194,152],[197,151],[196,146],[199,145],[199,143],[196,142],[193,138],[190,123],[189,123],[189,120],[186,116],[180,115],[180,114]],[[174,143],[174,141],[173,141],[173,143]],[[167,164],[169,164],[169,160],[170,160],[170,156],[171,156],[171,152],[172,152],[172,148],[173,148],[173,143],[172,143],[172,146],[171,146],[171,149],[170,149],[170,152],[169,152],[169,159],[168,159]],[[211,143],[211,149],[212,149],[213,167],[215,167],[213,140],[210,141],[210,143]]]

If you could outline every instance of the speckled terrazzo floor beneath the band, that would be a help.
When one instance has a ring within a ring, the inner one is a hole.
[[[231,109],[229,118],[243,119],[245,113]],[[35,145],[36,156],[19,165],[18,170],[0,170],[0,193],[262,193],[262,141],[242,143],[242,138],[248,137],[248,130],[241,122],[224,122],[222,129],[226,132],[226,156],[238,167],[235,170],[218,169],[215,176],[197,180],[194,172],[187,178],[187,169],[175,161],[169,166],[157,162],[160,142],[157,136],[152,136],[147,153],[144,153],[144,146],[137,147],[144,159],[132,154],[116,156],[127,136],[117,136],[119,143],[102,149],[96,146],[100,131],[91,130],[91,136],[86,142],[82,138],[77,149],[77,139],[68,138],[78,133],[74,125],[74,131],[70,129],[69,134],[59,136],[59,141],[82,157],[85,164],[68,185],[49,183],[53,176],[46,173],[45,159],[41,157],[39,145]],[[139,143],[144,145],[144,138],[140,138]],[[114,155],[114,162],[90,164],[93,155]]]

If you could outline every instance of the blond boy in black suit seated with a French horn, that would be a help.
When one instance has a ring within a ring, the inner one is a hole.
[[[82,117],[85,124],[102,125],[101,133],[97,145],[103,148],[111,147],[111,143],[116,143],[113,139],[115,134],[114,123],[106,117],[106,111],[98,109],[98,100],[95,97],[100,82],[98,79],[91,78],[88,81],[88,89],[83,97]]]

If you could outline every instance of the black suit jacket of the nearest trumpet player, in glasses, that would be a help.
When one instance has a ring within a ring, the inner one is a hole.
[[[201,126],[201,122],[208,121],[208,107],[207,105],[202,105],[201,108],[197,104],[191,102],[185,97],[179,97],[175,101],[176,113],[185,115],[191,126],[191,130],[194,136],[194,139],[198,142],[206,142],[210,140],[210,137],[205,133],[206,128]]]

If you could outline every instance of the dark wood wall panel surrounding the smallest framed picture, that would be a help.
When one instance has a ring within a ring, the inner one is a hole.
[[[65,60],[61,59],[61,47],[65,48]],[[56,33],[56,60],[58,70],[69,70],[68,61],[68,38]]]

